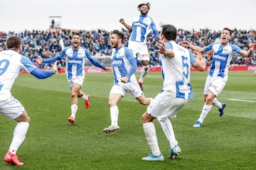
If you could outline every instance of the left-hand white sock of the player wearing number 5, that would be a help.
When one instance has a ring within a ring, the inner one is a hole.
[[[159,145],[157,142],[157,137],[156,137],[156,129],[154,126],[154,123],[143,123],[143,130],[146,135],[146,140],[148,142],[148,145],[152,151],[152,153],[155,156],[159,156],[161,154]]]

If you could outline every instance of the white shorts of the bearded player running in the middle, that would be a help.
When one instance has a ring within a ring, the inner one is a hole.
[[[132,81],[126,84],[114,84],[112,86],[112,89],[110,90],[110,94],[120,94],[121,96],[125,96],[125,94],[129,92],[129,94],[132,94],[134,98],[137,98],[139,96],[142,96],[142,90],[139,88],[139,84],[137,81]]]

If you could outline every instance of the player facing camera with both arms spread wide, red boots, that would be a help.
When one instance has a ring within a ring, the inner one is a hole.
[[[52,57],[47,60],[39,58],[36,60],[39,64],[47,62],[55,62],[65,57],[66,73],[68,86],[71,90],[71,115],[68,118],[70,124],[75,123],[75,115],[78,111],[78,97],[85,100],[85,108],[90,108],[90,95],[86,95],[80,89],[82,88],[85,79],[85,60],[86,58],[97,67],[104,69],[106,72],[112,72],[111,67],[105,67],[97,60],[94,60],[85,47],[80,47],[80,34],[73,33],[71,39],[72,46],[65,47],[57,57]]]

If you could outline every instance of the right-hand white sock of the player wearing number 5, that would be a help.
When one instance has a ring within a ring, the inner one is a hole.
[[[166,135],[167,140],[169,141],[170,147],[174,147],[178,144],[174,135],[174,128],[171,125],[171,121],[167,118],[164,122],[159,121],[162,130],[164,131],[164,135]]]

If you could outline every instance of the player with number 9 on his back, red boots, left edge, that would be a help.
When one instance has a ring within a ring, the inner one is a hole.
[[[9,151],[4,156],[4,162],[22,166],[23,162],[19,161],[16,152],[26,138],[30,118],[22,104],[11,95],[11,88],[22,70],[26,70],[38,79],[46,79],[58,69],[57,63],[53,65],[52,70],[38,69],[28,57],[21,55],[22,41],[17,36],[9,37],[6,40],[6,47],[7,50],[0,52],[0,113],[6,118],[16,120],[17,125]]]

